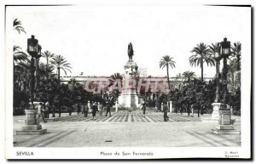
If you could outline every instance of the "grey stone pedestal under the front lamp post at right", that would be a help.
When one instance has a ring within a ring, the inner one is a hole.
[[[240,134],[240,131],[237,131],[231,120],[231,111],[230,110],[219,110],[219,119],[218,125],[212,129],[212,133],[216,134]]]

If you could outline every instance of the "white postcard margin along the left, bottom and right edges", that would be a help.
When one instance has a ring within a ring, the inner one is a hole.
[[[28,1],[29,4],[35,3],[34,1]],[[70,1],[62,1],[61,3],[70,3]],[[76,1],[78,2],[78,1]],[[88,1],[92,3],[92,1]],[[117,3],[117,1],[109,1],[113,3]],[[125,3],[135,3],[136,1],[125,1]],[[148,2],[148,1],[147,1]],[[167,3],[166,1],[160,1],[157,4],[160,3]],[[183,1],[184,2],[184,1]],[[199,1],[198,1],[199,2]],[[197,2],[197,3],[198,3]],[[210,1],[211,2],[211,1]],[[238,1],[236,1],[238,2]],[[14,2],[15,3],[15,2]],[[49,3],[49,1],[44,2],[44,3]],[[52,3],[52,2],[51,2]],[[102,1],[96,1],[96,3],[102,3]],[[140,1],[138,5],[143,5],[145,1]],[[149,1],[151,5],[154,5],[156,1]],[[212,2],[213,3],[213,2]],[[217,3],[214,1],[214,3]],[[224,3],[224,2],[223,2]],[[234,3],[234,2],[233,2]],[[42,4],[42,3],[41,3]],[[108,3],[109,4],[109,3]],[[240,4],[240,3],[239,3]],[[194,3],[195,5],[195,3]],[[3,7],[3,6],[2,6]],[[2,14],[2,13],[1,13]],[[251,36],[250,34],[251,31],[251,25],[248,25],[248,36]],[[9,42],[9,41],[6,41]],[[247,40],[241,42],[251,42],[251,39],[247,38]],[[2,44],[3,45],[3,44]],[[7,45],[11,45],[7,43]],[[11,48],[6,48],[5,54],[11,54],[8,52],[7,49]],[[247,50],[245,52],[244,50]],[[105,151],[148,151],[150,150],[151,152],[154,153],[154,158],[184,158],[184,157],[213,157],[213,158],[222,158],[224,157],[224,152],[225,151],[238,151],[239,156],[243,158],[248,158],[250,157],[250,114],[248,113],[248,109],[250,109],[250,86],[251,86],[251,45],[243,45],[242,48],[242,54],[247,54],[247,58],[241,58],[241,108],[242,109],[247,109],[247,110],[241,110],[241,147],[236,147],[236,148],[88,148],[84,149],[83,153],[80,149],[83,148],[47,148],[47,149],[40,149],[40,148],[14,148],[13,147],[13,135],[12,135],[12,129],[13,129],[13,116],[12,116],[12,110],[8,110],[12,108],[12,77],[9,76],[8,72],[12,72],[11,70],[5,70],[5,99],[6,99],[6,106],[5,106],[5,111],[6,111],[6,117],[5,117],[5,123],[6,123],[6,153],[5,156],[6,158],[9,159],[15,159],[17,158],[16,156],[16,151],[17,150],[29,150],[33,151],[35,156],[31,156],[30,159],[84,159],[84,154],[90,153],[90,156],[88,158],[90,159],[107,159],[106,156],[99,156],[99,153],[101,150]],[[6,55],[5,57],[8,57],[9,55]],[[7,68],[12,68],[12,60],[6,59],[5,60],[5,69]],[[3,65],[2,65],[3,66]],[[3,86],[3,85],[1,85]],[[196,149],[196,150],[195,150]],[[56,154],[55,152],[58,152]],[[182,152],[182,153],[181,153]],[[214,153],[212,153],[214,152]],[[55,154],[55,156],[52,156]],[[68,154],[68,156],[67,156]],[[119,156],[120,158],[123,158],[122,156]],[[119,157],[113,157],[115,159],[119,159]],[[147,156],[148,157],[148,156]],[[20,158],[20,156],[18,157]],[[21,156],[21,158],[27,159],[28,156]],[[20,159],[21,159],[20,158]],[[142,158],[142,156],[140,156]],[[131,159],[136,159],[136,156],[131,156]]]

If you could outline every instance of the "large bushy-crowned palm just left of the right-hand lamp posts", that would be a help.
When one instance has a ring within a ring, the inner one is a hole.
[[[189,57],[189,63],[190,65],[195,65],[201,66],[201,82],[203,82],[204,77],[203,77],[203,73],[204,73],[204,63],[206,62],[207,65],[215,65],[215,60],[212,57],[212,54],[210,53],[211,49],[208,48],[207,44],[201,42],[200,44],[197,44],[195,48],[192,49],[191,53],[195,53],[192,54]]]

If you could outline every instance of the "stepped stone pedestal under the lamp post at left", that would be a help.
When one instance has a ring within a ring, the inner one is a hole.
[[[38,120],[38,110],[36,110],[35,103],[30,105],[26,111],[26,125],[21,127],[21,130],[16,131],[16,135],[38,135],[46,133],[47,130],[42,128]]]

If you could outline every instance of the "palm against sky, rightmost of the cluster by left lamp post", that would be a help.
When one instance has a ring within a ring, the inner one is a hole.
[[[64,71],[65,75],[67,75],[67,71],[71,72],[70,69],[72,69],[70,63],[67,62],[67,59],[61,55],[55,55],[52,60],[50,60],[50,64],[57,70],[59,84],[61,82],[61,70]]]

